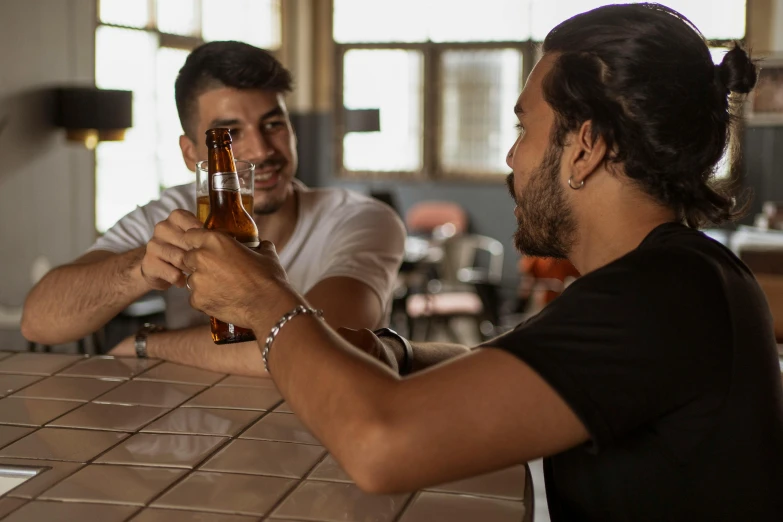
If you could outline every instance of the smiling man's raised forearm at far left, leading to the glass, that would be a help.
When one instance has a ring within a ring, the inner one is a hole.
[[[52,270],[25,300],[22,334],[58,344],[99,329],[150,290],[140,271],[143,256],[144,248],[124,254],[92,252]]]

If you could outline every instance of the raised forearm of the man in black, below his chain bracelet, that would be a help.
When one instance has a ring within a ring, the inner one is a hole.
[[[297,304],[277,303],[274,315],[282,316]],[[271,327],[253,324],[259,347],[266,337],[263,332]],[[295,317],[280,330],[268,361],[291,408],[360,481],[361,471],[356,470],[373,467],[373,452],[383,446],[376,437],[394,424],[399,376],[312,316]]]

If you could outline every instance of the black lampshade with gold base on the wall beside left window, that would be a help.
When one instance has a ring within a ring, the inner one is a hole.
[[[133,125],[133,93],[96,87],[56,89],[54,123],[69,131],[97,132],[112,139]],[[104,138],[105,136],[105,138]]]

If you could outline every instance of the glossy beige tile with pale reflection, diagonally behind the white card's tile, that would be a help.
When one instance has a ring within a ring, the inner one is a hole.
[[[193,468],[226,440],[206,435],[137,433],[96,462]]]

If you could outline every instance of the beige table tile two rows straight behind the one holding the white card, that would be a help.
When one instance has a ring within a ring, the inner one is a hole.
[[[169,411],[168,408],[137,404],[83,404],[51,422],[48,426],[109,431],[138,431]]]

